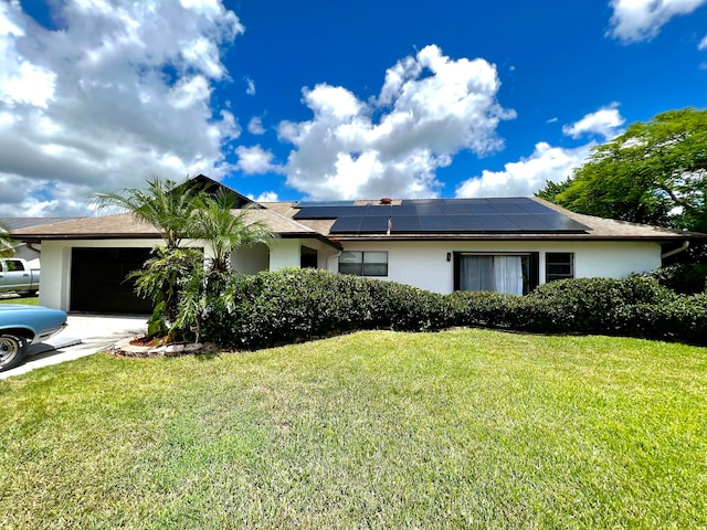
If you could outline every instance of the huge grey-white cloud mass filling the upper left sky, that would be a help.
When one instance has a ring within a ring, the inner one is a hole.
[[[240,127],[210,97],[244,31],[235,13],[220,0],[50,6],[61,29],[0,1],[0,215],[87,213],[91,192],[150,173],[228,172]]]

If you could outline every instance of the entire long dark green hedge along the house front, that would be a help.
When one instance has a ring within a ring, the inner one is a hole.
[[[205,307],[204,338],[239,349],[359,329],[452,326],[707,344],[707,295],[678,295],[656,278],[639,275],[552,282],[527,296],[440,295],[394,282],[293,268],[234,276]]]

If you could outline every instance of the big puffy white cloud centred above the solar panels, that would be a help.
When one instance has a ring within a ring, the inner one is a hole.
[[[435,197],[435,170],[460,150],[503,148],[496,127],[515,112],[498,104],[499,86],[494,65],[431,45],[389,68],[368,102],[341,86],[305,88],[314,117],[278,126],[281,140],[295,146],[287,184],[313,199]]]

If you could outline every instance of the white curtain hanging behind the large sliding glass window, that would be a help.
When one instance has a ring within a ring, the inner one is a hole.
[[[523,295],[521,256],[462,256],[460,289]]]

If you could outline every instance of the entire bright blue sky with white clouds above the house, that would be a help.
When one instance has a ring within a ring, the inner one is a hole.
[[[204,173],[260,200],[528,195],[707,96],[707,0],[0,2],[0,215]]]

